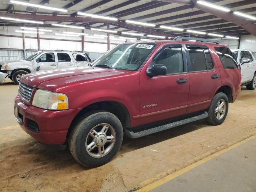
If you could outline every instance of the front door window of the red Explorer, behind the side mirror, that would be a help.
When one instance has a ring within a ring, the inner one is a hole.
[[[183,58],[181,48],[166,48],[155,59],[156,64],[167,68],[167,74],[183,72]]]

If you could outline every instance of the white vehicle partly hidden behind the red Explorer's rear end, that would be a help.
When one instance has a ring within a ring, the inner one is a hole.
[[[242,86],[254,90],[256,88],[256,59],[254,54],[247,49],[234,49],[232,52],[241,65]]]

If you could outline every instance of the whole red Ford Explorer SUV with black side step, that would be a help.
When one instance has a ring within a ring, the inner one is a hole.
[[[139,138],[200,119],[222,124],[241,89],[240,66],[227,46],[184,39],[120,44],[92,67],[23,76],[16,120],[42,143],[68,142],[89,167],[110,161],[124,134]]]

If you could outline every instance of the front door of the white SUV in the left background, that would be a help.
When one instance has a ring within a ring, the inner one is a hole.
[[[57,62],[55,60],[54,53],[45,53],[38,58],[38,65],[34,65],[35,71],[46,71],[57,68]]]

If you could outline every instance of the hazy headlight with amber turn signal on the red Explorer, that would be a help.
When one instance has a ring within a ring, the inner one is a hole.
[[[68,109],[68,97],[63,93],[54,93],[38,89],[33,98],[32,105],[50,110]]]

